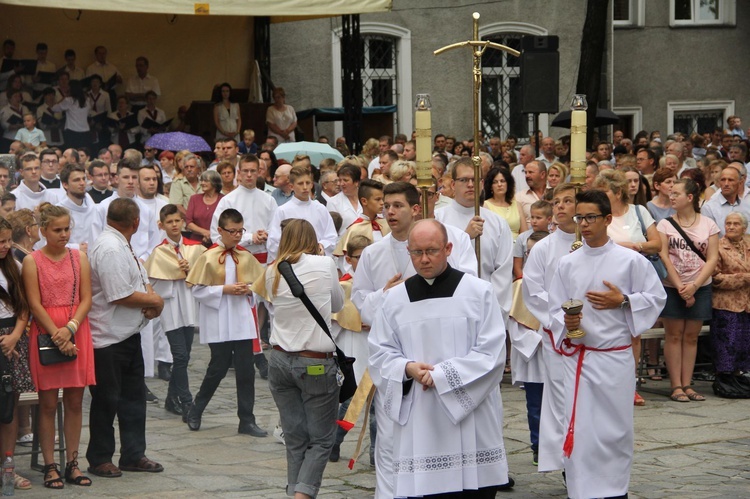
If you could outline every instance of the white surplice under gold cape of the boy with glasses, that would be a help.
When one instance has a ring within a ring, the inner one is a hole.
[[[225,260],[224,271],[224,284],[235,284],[237,265],[233,259]],[[198,302],[201,343],[252,340],[258,337],[252,311],[252,294],[225,295],[223,285],[196,284],[190,290]]]

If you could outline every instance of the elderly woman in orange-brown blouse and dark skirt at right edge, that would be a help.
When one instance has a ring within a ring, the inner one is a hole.
[[[747,218],[733,212],[724,222],[713,275],[711,345],[717,379],[750,389],[740,371],[750,371],[750,235]],[[721,378],[718,378],[721,377]]]

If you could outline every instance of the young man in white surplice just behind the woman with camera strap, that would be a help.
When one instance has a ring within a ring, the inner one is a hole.
[[[276,201],[265,192],[256,188],[260,160],[254,154],[246,154],[240,159],[238,174],[239,185],[235,190],[221,198],[211,220],[211,240],[218,241],[219,216],[227,208],[234,208],[242,213],[245,233],[239,244],[250,251],[262,264],[268,260],[268,228],[276,212]]]

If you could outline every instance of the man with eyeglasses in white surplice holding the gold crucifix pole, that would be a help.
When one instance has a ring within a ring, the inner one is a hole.
[[[445,225],[463,229],[481,249],[481,278],[492,284],[503,320],[508,320],[512,299],[513,235],[505,219],[487,208],[474,215],[474,192],[481,182],[474,180],[474,163],[471,158],[461,158],[452,169],[453,203],[435,212],[435,219]]]

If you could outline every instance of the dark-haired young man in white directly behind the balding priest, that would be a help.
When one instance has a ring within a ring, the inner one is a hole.
[[[393,182],[383,189],[383,207],[391,233],[364,249],[352,283],[352,303],[371,325],[383,305],[385,292],[416,273],[407,252],[407,238],[419,219],[419,191],[408,182]],[[447,256],[453,268],[476,275],[477,259],[469,236],[455,227],[446,227],[452,251]],[[375,377],[373,377],[373,380]],[[393,422],[385,413],[383,399],[376,394],[375,414],[378,437],[375,440],[376,499],[393,494]]]

